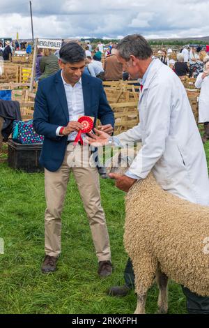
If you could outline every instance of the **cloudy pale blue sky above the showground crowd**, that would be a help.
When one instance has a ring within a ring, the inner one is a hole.
[[[39,38],[208,36],[209,0],[31,0]],[[29,0],[0,0],[0,38],[31,38]]]

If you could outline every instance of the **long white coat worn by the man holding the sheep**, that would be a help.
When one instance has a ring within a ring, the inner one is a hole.
[[[206,154],[187,93],[173,70],[154,60],[139,99],[140,123],[117,135],[123,145],[142,142],[129,172],[145,179],[153,170],[164,190],[209,205]]]

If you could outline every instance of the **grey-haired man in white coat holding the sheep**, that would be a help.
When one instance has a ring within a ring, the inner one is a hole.
[[[110,174],[123,191],[150,170],[162,188],[196,204],[209,205],[209,180],[203,149],[185,88],[168,66],[152,55],[150,45],[139,35],[126,36],[118,43],[117,57],[132,78],[142,79],[138,126],[109,137],[97,131],[90,144],[127,145],[141,140],[142,147],[129,170],[122,176]],[[126,285],[113,287],[110,295],[124,296],[134,285],[130,260],[125,269]],[[199,297],[183,288],[189,313],[209,313],[209,297]],[[209,296],[209,295],[208,295]]]

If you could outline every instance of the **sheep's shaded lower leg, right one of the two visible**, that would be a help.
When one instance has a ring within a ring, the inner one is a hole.
[[[160,269],[157,270],[156,281],[159,288],[159,297],[157,301],[158,313],[167,313],[168,311],[168,280],[166,274]]]

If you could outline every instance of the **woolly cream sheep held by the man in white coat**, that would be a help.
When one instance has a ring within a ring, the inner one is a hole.
[[[130,151],[128,155],[127,161],[127,150],[122,149],[111,158],[107,172],[124,174],[131,163]],[[135,274],[135,314],[145,313],[146,295],[155,278],[160,290],[158,313],[168,310],[168,277],[197,295],[209,295],[209,207],[164,191],[150,172],[125,196],[123,240]]]

